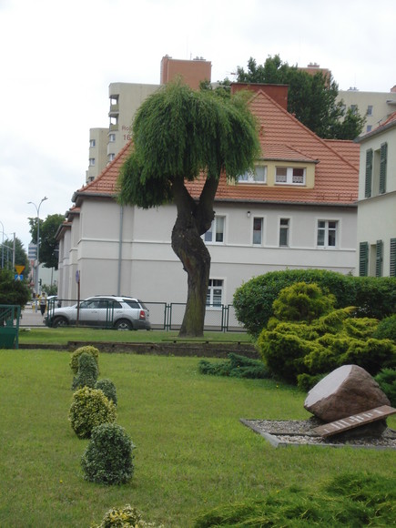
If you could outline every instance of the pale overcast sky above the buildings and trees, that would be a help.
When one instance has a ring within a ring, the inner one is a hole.
[[[394,0],[0,0],[0,240],[27,250],[38,207],[73,206],[110,83],[159,84],[165,55],[202,56],[218,81],[278,54],[329,68],[340,90],[389,92],[395,15]]]

